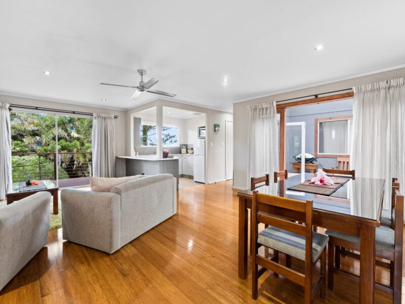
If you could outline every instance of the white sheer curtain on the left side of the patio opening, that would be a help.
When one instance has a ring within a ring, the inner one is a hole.
[[[248,106],[248,172],[250,177],[278,171],[278,126],[275,101]]]

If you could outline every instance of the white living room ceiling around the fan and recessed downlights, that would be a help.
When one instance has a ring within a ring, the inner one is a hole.
[[[153,89],[177,94],[166,99],[232,111],[404,66],[404,11],[403,0],[2,0],[0,93],[128,109],[159,95],[133,101],[99,83],[137,86],[144,68]]]

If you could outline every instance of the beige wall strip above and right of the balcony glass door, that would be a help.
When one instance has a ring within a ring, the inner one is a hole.
[[[117,115],[118,118],[114,120],[114,122],[115,122],[115,154],[124,155],[124,153],[125,153],[127,130],[129,131],[129,129],[126,128],[127,116],[126,116],[125,111],[77,105],[77,104],[71,104],[71,103],[62,103],[62,102],[57,102],[57,101],[48,101],[48,100],[40,100],[40,99],[32,99],[32,98],[24,98],[24,97],[14,97],[14,96],[8,96],[8,95],[0,95],[0,102],[49,108],[51,112],[52,112],[51,109],[61,109],[61,110],[78,111],[78,112],[104,113],[104,114]],[[117,164],[116,173],[117,173],[117,176],[124,176],[125,167],[123,168],[122,166]]]

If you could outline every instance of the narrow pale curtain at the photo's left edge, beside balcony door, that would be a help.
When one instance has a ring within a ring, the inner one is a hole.
[[[0,200],[12,189],[10,104],[0,102]]]

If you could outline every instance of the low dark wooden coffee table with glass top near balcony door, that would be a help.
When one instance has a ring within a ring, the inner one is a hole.
[[[38,186],[24,186],[25,182],[13,182],[13,191],[6,194],[7,205],[10,205],[14,201],[21,200],[30,196],[31,194],[39,191],[48,191],[53,196],[53,214],[58,214],[58,190],[59,188],[50,180],[38,180]]]

